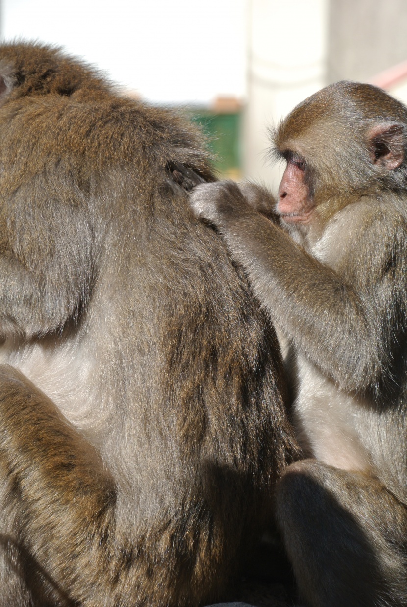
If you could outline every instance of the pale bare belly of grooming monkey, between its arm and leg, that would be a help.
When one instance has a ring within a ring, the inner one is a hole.
[[[366,408],[298,355],[294,423],[306,455],[344,470],[370,471],[361,437],[369,424]]]

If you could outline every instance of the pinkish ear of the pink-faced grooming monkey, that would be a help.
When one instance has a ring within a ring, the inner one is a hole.
[[[391,171],[404,160],[404,126],[398,122],[375,124],[368,131],[372,162]]]

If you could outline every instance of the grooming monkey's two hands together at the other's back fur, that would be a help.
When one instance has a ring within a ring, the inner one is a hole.
[[[221,230],[231,220],[249,218],[256,211],[277,221],[272,196],[251,183],[238,186],[234,181],[217,181],[199,185],[190,194],[190,205],[196,217]]]

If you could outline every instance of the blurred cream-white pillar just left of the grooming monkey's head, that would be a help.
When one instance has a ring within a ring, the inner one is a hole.
[[[282,167],[267,129],[325,86],[328,0],[248,0],[248,94],[243,174],[275,191]]]

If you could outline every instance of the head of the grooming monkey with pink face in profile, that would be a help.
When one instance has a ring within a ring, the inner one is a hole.
[[[370,84],[332,84],[273,132],[287,162],[277,211],[291,226],[327,220],[363,195],[407,191],[407,109]]]

